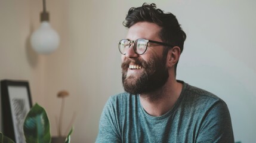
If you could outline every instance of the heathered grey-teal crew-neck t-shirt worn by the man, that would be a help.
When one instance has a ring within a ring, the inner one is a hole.
[[[101,114],[96,142],[234,142],[226,103],[183,82],[171,110],[159,117],[144,111],[138,95],[112,96]]]

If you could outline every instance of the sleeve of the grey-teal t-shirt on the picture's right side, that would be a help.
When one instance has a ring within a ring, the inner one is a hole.
[[[208,109],[196,142],[234,142],[230,113],[224,101],[217,101]]]

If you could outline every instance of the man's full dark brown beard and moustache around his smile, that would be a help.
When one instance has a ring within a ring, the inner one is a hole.
[[[127,77],[127,70],[130,63],[141,65],[141,67],[144,69],[143,73],[137,77],[132,75]],[[133,95],[145,95],[164,86],[169,77],[165,63],[166,62],[164,59],[161,60],[157,57],[153,57],[149,61],[140,60],[138,58],[132,60],[128,58],[125,60],[124,63],[122,63],[122,83],[125,91]]]

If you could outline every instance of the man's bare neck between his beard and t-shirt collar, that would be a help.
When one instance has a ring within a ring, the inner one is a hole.
[[[175,104],[180,97],[182,84],[175,78],[169,79],[162,88],[157,91],[140,95],[140,102],[144,110],[151,116],[162,116]]]

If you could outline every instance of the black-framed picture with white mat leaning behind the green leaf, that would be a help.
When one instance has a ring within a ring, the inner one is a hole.
[[[23,122],[32,107],[29,82],[1,80],[1,103],[4,135],[24,143]]]

